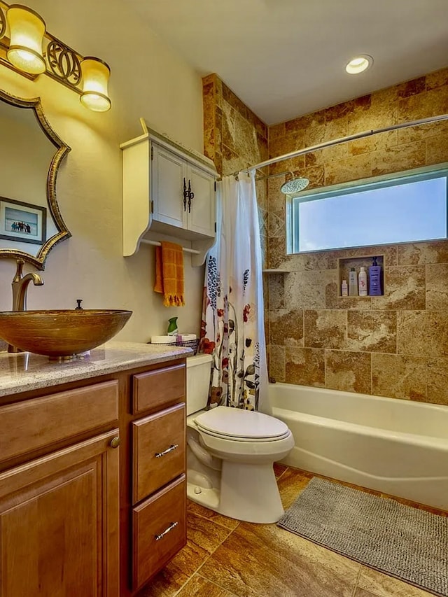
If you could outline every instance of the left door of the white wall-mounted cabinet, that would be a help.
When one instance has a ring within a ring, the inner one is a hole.
[[[153,143],[151,199],[154,202],[154,220],[180,228],[186,227],[187,216],[183,206],[185,177],[185,160]]]

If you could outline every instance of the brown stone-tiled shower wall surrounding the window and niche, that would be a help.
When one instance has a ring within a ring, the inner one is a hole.
[[[448,69],[269,127],[269,157],[442,113]],[[223,174],[265,159],[265,125],[216,75],[204,79],[204,119],[207,155]],[[447,161],[448,122],[439,122],[279,162],[271,173],[292,170],[318,188]],[[270,376],[448,404],[448,241],[286,255],[281,182],[269,180],[267,197],[258,188],[268,265],[288,270],[265,274]],[[338,297],[337,258],[377,254],[385,296]]]

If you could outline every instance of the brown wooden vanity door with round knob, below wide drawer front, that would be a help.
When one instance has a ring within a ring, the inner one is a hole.
[[[0,596],[119,596],[118,430],[0,475]]]

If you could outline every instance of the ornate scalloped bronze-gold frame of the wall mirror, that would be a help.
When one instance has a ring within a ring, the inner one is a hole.
[[[34,111],[34,115],[36,116],[36,120],[38,125],[41,127],[42,132],[45,134],[45,136],[47,136],[55,148],[57,148],[55,155],[53,155],[50,162],[50,167],[48,168],[46,196],[48,209],[50,209],[51,216],[55,221],[55,226],[59,232],[54,234],[43,243],[36,257],[34,257],[34,255],[30,255],[29,253],[25,253],[25,251],[19,251],[14,248],[0,248],[0,258],[23,259],[34,265],[37,269],[44,269],[45,260],[50,250],[57,243],[71,237],[71,232],[66,227],[61,216],[61,212],[59,211],[59,205],[57,204],[56,196],[56,179],[59,166],[69,151],[71,151],[71,148],[64,143],[62,139],[60,139],[60,137],[52,129],[48,120],[45,118],[40,97],[35,97],[33,99],[22,99],[0,90],[0,101],[5,101],[6,104],[10,104],[11,106],[15,106],[17,108],[28,108]]]

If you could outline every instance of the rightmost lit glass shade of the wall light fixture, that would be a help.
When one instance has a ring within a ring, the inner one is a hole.
[[[111,69],[99,58],[85,57],[81,62],[83,92],[80,100],[94,112],[106,112],[111,107],[107,85]]]

